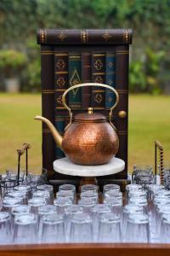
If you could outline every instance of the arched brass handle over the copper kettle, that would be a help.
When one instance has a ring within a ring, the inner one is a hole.
[[[69,111],[69,115],[70,115],[70,122],[69,124],[65,127],[65,129],[68,128],[68,126],[71,125],[71,121],[72,121],[72,112],[71,112],[71,108],[69,108],[65,102],[65,96],[66,94],[70,91],[70,90],[73,90],[73,89],[77,89],[79,87],[85,87],[85,86],[99,86],[99,87],[105,87],[105,88],[108,88],[110,90],[112,90],[115,94],[116,94],[116,102],[115,104],[111,107],[111,111],[110,111],[110,124],[111,126],[115,128],[115,126],[111,123],[111,118],[113,116],[113,109],[116,108],[118,102],[119,102],[119,95],[118,95],[118,92],[115,90],[115,88],[111,87],[110,85],[107,85],[107,84],[98,84],[98,83],[86,83],[86,84],[76,84],[76,85],[73,85],[71,87],[69,87],[67,90],[65,90],[63,96],[62,96],[62,103],[63,105],[65,106],[65,108]]]

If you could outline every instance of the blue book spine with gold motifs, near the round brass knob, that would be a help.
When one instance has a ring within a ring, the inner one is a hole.
[[[116,53],[107,52],[105,55],[105,84],[116,88]],[[116,102],[115,94],[105,89],[105,108],[110,109]]]

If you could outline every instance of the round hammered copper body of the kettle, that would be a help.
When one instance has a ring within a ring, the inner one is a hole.
[[[119,148],[119,141],[105,116],[82,113],[75,116],[65,131],[61,147],[73,163],[94,166],[109,162]]]

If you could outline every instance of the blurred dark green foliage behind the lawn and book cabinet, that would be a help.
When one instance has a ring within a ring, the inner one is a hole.
[[[40,90],[37,28],[132,27],[130,90],[170,93],[169,14],[170,0],[1,0],[0,58],[6,56],[0,60],[1,84],[8,55],[20,90]]]

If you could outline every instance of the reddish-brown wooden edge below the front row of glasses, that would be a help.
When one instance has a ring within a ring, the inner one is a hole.
[[[170,244],[43,244],[1,246],[1,256],[166,256]]]

